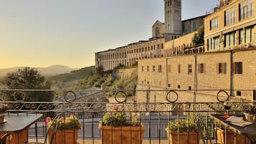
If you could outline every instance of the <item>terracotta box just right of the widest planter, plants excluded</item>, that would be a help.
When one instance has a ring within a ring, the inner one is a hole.
[[[179,143],[178,143],[178,132],[166,129],[169,143],[171,144],[199,144],[199,133],[198,132],[182,132],[179,133]]]

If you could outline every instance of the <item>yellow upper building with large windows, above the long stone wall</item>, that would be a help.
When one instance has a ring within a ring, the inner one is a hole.
[[[221,9],[204,21],[206,52],[249,48],[255,45],[255,0],[221,2]]]

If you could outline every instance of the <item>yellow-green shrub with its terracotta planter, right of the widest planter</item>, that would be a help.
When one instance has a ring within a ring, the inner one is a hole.
[[[179,119],[169,122],[166,132],[171,144],[198,144],[199,133],[193,120]]]

